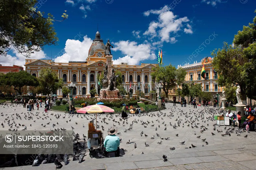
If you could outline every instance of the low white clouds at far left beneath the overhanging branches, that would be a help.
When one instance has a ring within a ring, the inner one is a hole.
[[[31,59],[45,59],[46,54],[44,51],[40,50],[39,52],[34,52],[30,56]],[[22,66],[25,68],[25,59],[27,59],[24,55],[21,53],[18,53],[18,51],[15,48],[11,48],[10,51],[8,52],[7,56],[0,56],[0,63],[3,66],[12,66],[18,65]]]

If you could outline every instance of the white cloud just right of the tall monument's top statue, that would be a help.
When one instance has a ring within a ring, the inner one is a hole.
[[[113,64],[128,62],[129,65],[137,65],[144,60],[156,59],[150,44],[138,44],[137,42],[127,40],[116,42],[114,45],[113,51],[121,51],[125,56],[113,59]]]

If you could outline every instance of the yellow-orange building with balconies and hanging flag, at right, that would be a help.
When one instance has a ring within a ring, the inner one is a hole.
[[[216,94],[222,93],[222,87],[218,85],[218,73],[214,70],[212,65],[212,58],[205,57],[200,62],[194,62],[193,64],[185,64],[184,66],[178,65],[178,68],[184,68],[187,71],[184,83],[201,83],[202,91],[204,92],[211,92],[213,96]],[[201,71],[203,65],[205,66],[205,79],[201,77]],[[180,87],[181,88],[181,87]],[[177,90],[177,89],[176,89]],[[221,98],[221,95],[219,99]],[[196,99],[197,101],[201,102],[200,98]],[[213,100],[213,97],[212,97]]]

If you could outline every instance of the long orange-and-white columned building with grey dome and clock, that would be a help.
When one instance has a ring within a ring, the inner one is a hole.
[[[63,79],[64,86],[68,87],[68,83],[73,82],[76,88],[73,89],[73,96],[86,97],[90,96],[90,90],[96,88],[99,94],[100,87],[98,86],[97,75],[103,71],[106,64],[105,45],[100,38],[100,33],[97,31],[95,39],[89,49],[88,56],[84,56],[85,61],[69,61],[68,63],[55,63],[52,60],[37,60],[26,59],[26,71],[31,75],[38,77],[39,71],[42,68],[50,67],[56,71],[59,78]],[[141,90],[148,95],[150,90],[155,88],[155,83],[152,83],[150,73],[156,64],[128,65],[127,63],[120,63],[113,65],[114,70],[122,72],[122,85],[128,92],[130,84],[133,88],[132,93],[135,94],[138,85]],[[145,82],[145,87],[144,87]],[[61,88],[55,92],[59,97],[66,97],[62,94]]]

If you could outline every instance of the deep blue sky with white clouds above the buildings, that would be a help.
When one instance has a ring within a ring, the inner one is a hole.
[[[59,41],[44,46],[32,59],[55,62],[85,61],[99,30],[104,44],[110,39],[114,64],[163,64],[200,62],[255,17],[254,0],[41,0],[37,9],[61,20],[54,22]],[[25,64],[25,57],[11,49],[0,57],[4,66]]]

